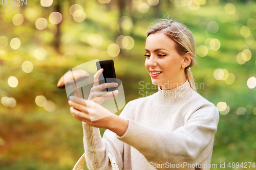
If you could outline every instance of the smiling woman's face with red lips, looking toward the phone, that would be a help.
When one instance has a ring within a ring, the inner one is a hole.
[[[152,83],[162,90],[173,89],[186,81],[184,56],[177,53],[175,43],[162,32],[150,34],[146,39],[145,67]]]

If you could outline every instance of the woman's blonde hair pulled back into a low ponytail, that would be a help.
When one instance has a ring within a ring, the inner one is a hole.
[[[185,76],[190,84],[190,87],[197,91],[193,75],[190,70],[187,71],[189,67],[194,66],[196,63],[196,45],[191,31],[189,31],[183,23],[177,21],[176,19],[170,18],[169,16],[165,16],[165,19],[159,19],[157,22],[153,23],[150,29],[147,30],[146,37],[156,32],[163,32],[168,37],[173,39],[176,42],[176,51],[180,55],[185,55],[187,52],[191,53],[191,62],[185,68]]]

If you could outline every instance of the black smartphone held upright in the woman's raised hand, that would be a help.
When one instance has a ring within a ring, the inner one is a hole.
[[[116,82],[116,72],[114,67],[114,60],[96,61],[97,70],[103,68],[102,74],[99,76],[99,84]],[[117,87],[104,88],[101,91],[114,91]]]

